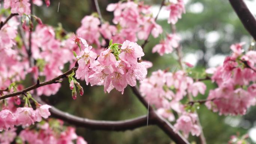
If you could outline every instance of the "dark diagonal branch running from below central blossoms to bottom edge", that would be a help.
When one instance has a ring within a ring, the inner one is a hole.
[[[147,108],[148,102],[141,96],[138,88],[136,86],[131,87],[134,94],[140,100],[140,102]],[[174,132],[173,125],[171,125],[167,120],[163,117],[159,116],[153,110],[153,107],[149,105],[149,117],[155,120],[156,125],[158,125],[167,135],[170,137],[176,144],[189,144],[188,140],[186,140],[179,132]]]

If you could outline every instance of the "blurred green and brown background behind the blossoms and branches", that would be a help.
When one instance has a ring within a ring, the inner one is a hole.
[[[111,22],[113,13],[106,11],[109,3],[118,0],[98,0],[103,18]],[[58,10],[58,4],[60,7]],[[157,14],[161,0],[144,0],[144,3],[153,5],[152,12]],[[205,68],[222,64],[226,55],[230,54],[229,46],[232,43],[246,42],[244,48],[252,43],[252,37],[244,29],[237,15],[227,0],[185,0],[186,14],[176,24],[177,32],[182,37],[183,60],[195,65],[190,69],[194,74],[200,74]],[[246,0],[250,10],[256,14],[256,1]],[[93,12],[91,0],[51,0],[49,8],[36,7],[35,14],[46,24],[57,27],[59,23],[68,32],[75,32],[80,27],[81,19]],[[158,23],[165,32],[170,33],[171,27],[167,24],[169,13],[162,9]],[[139,41],[138,44],[142,44]],[[152,71],[171,68],[171,71],[179,68],[176,62],[176,53],[159,56],[152,53],[153,46],[159,43],[159,39],[150,37],[145,47],[144,60],[153,62]],[[68,65],[65,70],[68,69]],[[65,71],[64,70],[64,71]],[[46,97],[51,104],[60,110],[76,116],[96,120],[125,120],[141,116],[147,113],[146,108],[132,94],[127,87],[124,95],[115,90],[110,94],[104,94],[103,86],[86,86],[84,95],[76,100],[71,98],[71,91],[67,90],[68,81],[64,80],[57,95]],[[209,89],[214,89],[215,84],[205,81],[207,92],[195,99],[207,98]],[[249,133],[251,143],[256,143],[256,107],[251,107],[245,116],[219,116],[201,105],[198,110],[199,118],[208,144],[226,144],[231,135]],[[77,128],[77,134],[82,135],[88,144],[170,144],[170,138],[157,126],[146,126],[133,131],[92,131],[86,128]],[[199,144],[199,139],[189,137],[189,141]]]

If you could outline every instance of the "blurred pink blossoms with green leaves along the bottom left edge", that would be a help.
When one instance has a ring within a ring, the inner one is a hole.
[[[50,119],[49,123],[42,121],[36,129],[24,129],[16,137],[16,129],[10,129],[0,134],[1,144],[10,144],[14,140],[19,144],[87,144],[80,136],[77,136],[73,127],[63,126],[61,120]]]

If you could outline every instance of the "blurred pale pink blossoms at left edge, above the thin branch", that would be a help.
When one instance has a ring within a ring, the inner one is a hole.
[[[3,20],[3,18],[1,19]],[[25,49],[18,51],[15,37],[19,23],[11,19],[0,30],[0,89],[6,89],[12,82],[25,79],[28,70],[27,58],[22,56]]]

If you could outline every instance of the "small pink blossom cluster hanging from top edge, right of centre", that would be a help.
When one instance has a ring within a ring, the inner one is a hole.
[[[170,10],[170,15],[168,18],[168,23],[176,24],[179,18],[182,17],[182,13],[185,13],[185,5],[183,0],[170,0],[167,5],[167,10]]]

